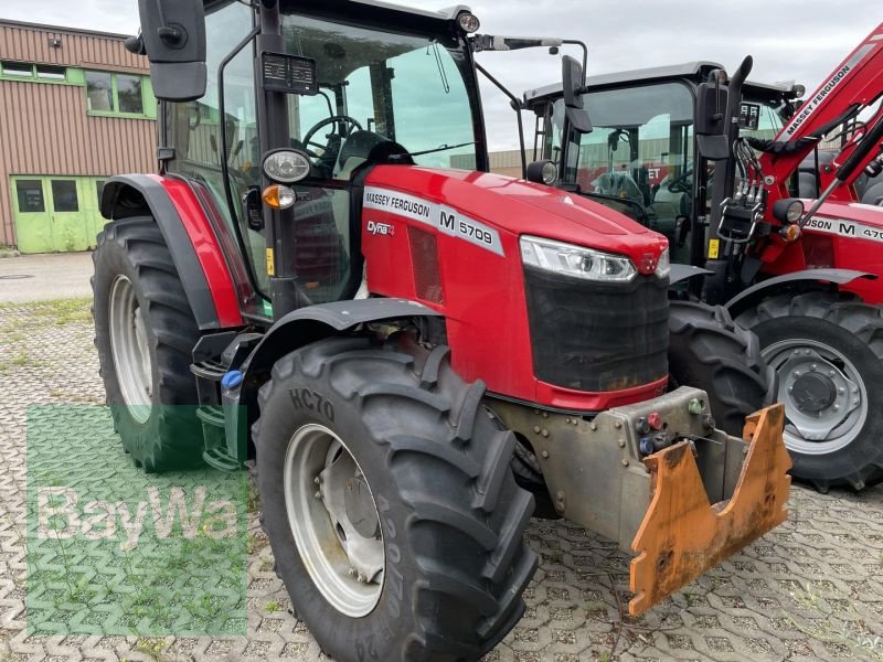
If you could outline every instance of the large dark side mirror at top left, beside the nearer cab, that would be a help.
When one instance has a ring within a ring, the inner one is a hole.
[[[138,0],[138,13],[141,43],[127,47],[147,54],[153,95],[167,102],[202,97],[208,83],[202,0]]]

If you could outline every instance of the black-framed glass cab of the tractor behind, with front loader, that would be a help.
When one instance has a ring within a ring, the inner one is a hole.
[[[561,85],[530,90],[534,153],[561,164],[561,186],[666,235],[674,263],[696,264],[691,250],[703,250],[704,237],[694,247],[690,228],[708,213],[715,169],[694,149],[698,88],[722,68],[694,62],[592,76],[583,95],[588,134],[565,120]],[[794,113],[789,87],[747,83],[743,94],[742,135],[772,139]]]

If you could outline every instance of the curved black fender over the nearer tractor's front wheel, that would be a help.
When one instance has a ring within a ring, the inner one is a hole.
[[[415,317],[442,319],[438,312],[416,301],[384,298],[308,306],[283,317],[238,367],[243,375],[241,386],[224,392],[224,416],[230,419],[225,426],[227,452],[240,462],[247,459],[252,424],[257,419],[257,392],[281,356],[360,324]],[[248,417],[247,427],[238,420],[243,415]]]

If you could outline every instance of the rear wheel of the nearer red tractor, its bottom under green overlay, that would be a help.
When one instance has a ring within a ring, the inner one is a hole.
[[[202,466],[199,329],[162,233],[149,216],[114,221],[92,259],[99,374],[123,447],[149,472]]]

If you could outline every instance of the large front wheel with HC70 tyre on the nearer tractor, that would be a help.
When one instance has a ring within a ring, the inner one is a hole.
[[[533,496],[483,384],[447,356],[328,339],[277,361],[260,388],[265,527],[295,611],[336,660],[476,660],[524,611]],[[352,511],[334,493],[339,461],[342,491],[363,499]]]

